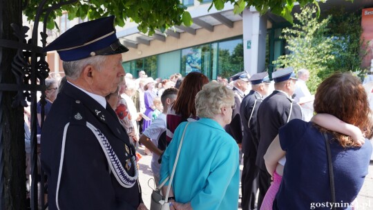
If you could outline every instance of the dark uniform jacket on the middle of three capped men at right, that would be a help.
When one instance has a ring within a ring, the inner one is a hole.
[[[242,99],[240,106],[240,117],[244,128],[242,153],[250,158],[256,158],[256,151],[258,150],[257,113],[261,103],[262,96],[258,92],[250,90],[250,93]]]

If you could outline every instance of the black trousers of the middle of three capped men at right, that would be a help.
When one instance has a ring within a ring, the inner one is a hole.
[[[256,166],[255,160],[256,158],[250,158],[249,155],[244,155],[244,167],[241,175],[242,210],[255,209],[259,174],[259,168]]]

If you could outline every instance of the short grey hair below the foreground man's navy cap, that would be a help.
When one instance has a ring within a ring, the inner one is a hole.
[[[95,68],[101,70],[102,64],[104,64],[106,59],[107,56],[105,55],[97,55],[77,61],[63,61],[62,65],[64,67],[66,77],[77,79],[82,73],[82,70],[88,65],[95,66]]]

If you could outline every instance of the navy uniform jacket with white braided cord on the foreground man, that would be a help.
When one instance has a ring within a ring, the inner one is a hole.
[[[57,198],[60,209],[137,209],[142,202],[138,182],[132,182],[135,184],[130,188],[119,184],[101,144],[87,123],[102,132],[99,137],[106,137],[117,155],[116,163],[120,162],[128,175],[135,173],[136,164],[128,165],[135,149],[113,109],[106,110],[95,99],[66,82],[52,104],[41,132],[41,165],[48,175],[49,209],[57,209],[55,197],[60,172]],[[64,135],[66,143],[62,149]],[[60,171],[61,154],[64,156]]]

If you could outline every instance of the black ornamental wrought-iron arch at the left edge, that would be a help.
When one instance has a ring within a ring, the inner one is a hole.
[[[12,41],[8,39],[2,39],[3,30],[3,1],[0,1],[0,64],[3,54],[3,48],[12,48],[17,50],[16,56],[12,60],[11,71],[15,76],[15,84],[0,84],[0,104],[3,102],[3,93],[11,91],[17,92],[17,95],[13,98],[11,104],[6,104],[6,106],[11,106],[12,108],[17,108],[19,106],[26,107],[28,102],[30,102],[30,144],[31,144],[31,184],[30,184],[30,209],[46,209],[48,204],[44,204],[44,173],[40,171],[38,174],[38,161],[37,161],[37,91],[41,91],[41,126],[44,122],[44,103],[46,100],[46,95],[44,90],[46,90],[45,79],[49,75],[49,67],[46,62],[46,53],[42,53],[42,48],[46,46],[46,23],[50,12],[61,6],[75,3],[77,0],[70,1],[59,1],[59,3],[52,4],[48,6],[48,0],[43,0],[39,3],[37,12],[34,19],[34,26],[32,28],[32,37],[26,41],[26,32],[30,28],[27,26],[18,26],[15,23],[11,23],[13,34],[17,37],[18,41]],[[22,10],[27,7],[27,0],[24,0],[21,4]],[[46,7],[46,8],[44,8]],[[38,27],[41,15],[44,15],[44,27],[40,32],[41,44],[42,46],[37,46],[38,40]],[[2,78],[3,70],[0,70],[0,79]],[[2,80],[1,80],[2,82]],[[0,121],[2,121],[3,109],[0,109]],[[3,125],[6,122],[0,123],[0,209],[3,209],[4,204],[4,158],[3,158]],[[23,141],[23,140],[20,140]],[[23,152],[25,152],[23,150]],[[38,199],[38,176],[41,192],[41,196]],[[22,181],[22,180],[21,180]],[[25,180],[26,184],[26,180]],[[26,193],[24,194],[26,196]]]

